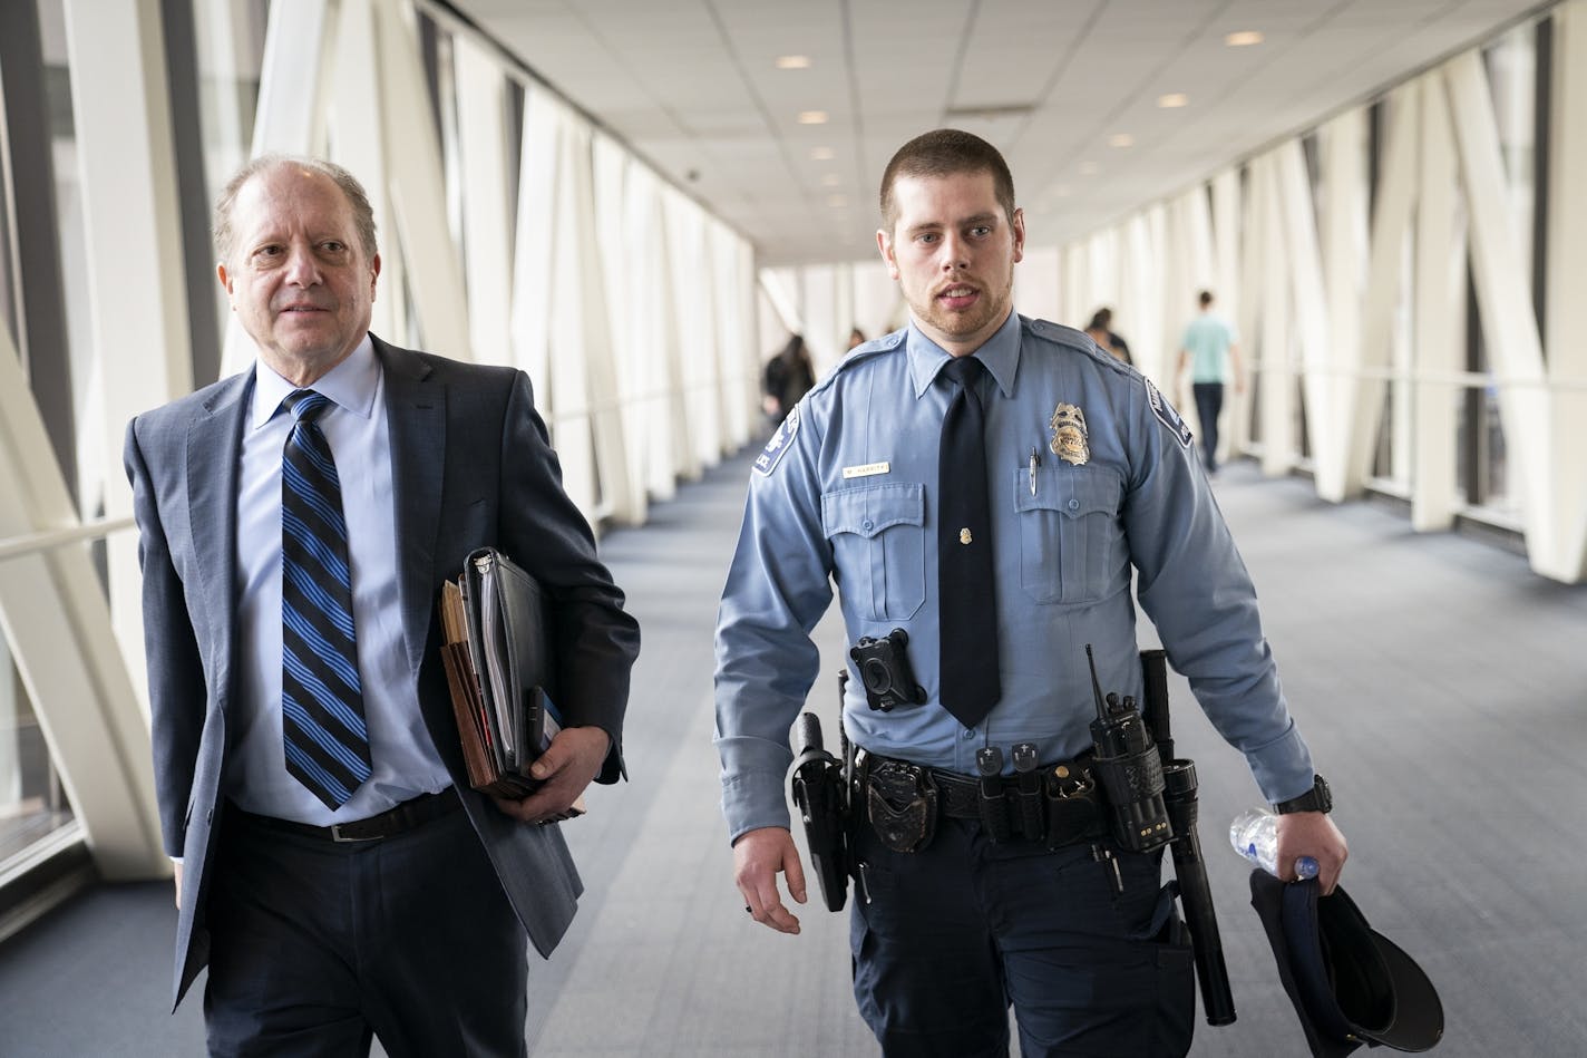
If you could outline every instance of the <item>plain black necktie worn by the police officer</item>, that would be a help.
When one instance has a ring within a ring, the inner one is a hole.
[[[959,384],[943,416],[938,481],[936,594],[943,707],[965,728],[979,724],[1003,694],[997,666],[992,515],[987,504],[986,418],[973,356],[943,372]]]

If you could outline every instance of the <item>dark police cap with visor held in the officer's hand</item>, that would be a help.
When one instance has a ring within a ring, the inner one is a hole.
[[[1251,905],[1316,1058],[1344,1058],[1362,1044],[1430,1050],[1444,1034],[1433,982],[1343,886],[1322,896],[1316,878],[1284,883],[1252,871]]]

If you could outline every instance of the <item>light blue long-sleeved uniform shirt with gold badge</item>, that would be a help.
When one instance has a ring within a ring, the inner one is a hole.
[[[1011,313],[976,356],[987,369],[978,394],[1001,699],[970,731],[938,699],[936,470],[954,384],[938,378],[949,354],[911,326],[851,353],[800,400],[751,473],[716,639],[728,836],[789,826],[789,728],[817,677],[809,632],[833,586],[849,643],[905,629],[927,691],[922,705],[871,710],[849,662],[844,726],[868,751],[974,774],[974,753],[989,743],[1005,759],[1025,740],[1043,761],[1087,750],[1097,712],[1086,645],[1105,691],[1141,696],[1133,566],[1170,661],[1246,755],[1266,799],[1309,790],[1311,755],[1289,716],[1255,591],[1174,410],[1133,369],[1046,321]],[[1084,416],[1084,462],[1054,453],[1060,404]]]

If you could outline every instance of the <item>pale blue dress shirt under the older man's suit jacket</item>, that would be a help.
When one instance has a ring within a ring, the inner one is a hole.
[[[452,785],[419,712],[397,597],[397,524],[381,364],[368,338],[313,389],[332,407],[319,416],[336,458],[352,566],[352,620],[370,731],[373,775],[332,812],[287,774],[281,740],[281,451],[297,386],[254,367],[236,500],[238,680],[227,759],[227,796],[246,812],[327,826],[379,815]]]

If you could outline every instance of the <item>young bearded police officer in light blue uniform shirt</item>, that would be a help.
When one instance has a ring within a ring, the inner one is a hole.
[[[716,742],[738,888],[755,921],[798,933],[776,880],[805,902],[787,734],[835,583],[851,640],[903,629],[924,689],[881,710],[851,680],[844,702],[867,769],[924,775],[919,804],[874,785],[860,797],[854,993],[882,1052],[1005,1055],[1013,1004],[1027,1058],[1184,1053],[1193,982],[1187,953],[1159,940],[1160,850],[993,840],[947,810],[978,755],[998,750],[1009,772],[1009,748],[1035,743],[1046,774],[1090,747],[1087,643],[1101,686],[1139,697],[1132,566],[1217,729],[1268,801],[1301,809],[1281,817],[1281,869],[1309,855],[1331,890],[1344,837],[1316,810],[1311,755],[1190,432],[1084,335],[1013,311],[1025,224],[1003,157],[925,133],[889,162],[881,211],[909,326],[849,354],[768,442],[722,596]],[[966,357],[978,365],[955,365]],[[966,423],[984,458],[952,454]],[[965,513],[966,483],[981,513]],[[984,573],[966,583],[952,564],[971,556]]]

